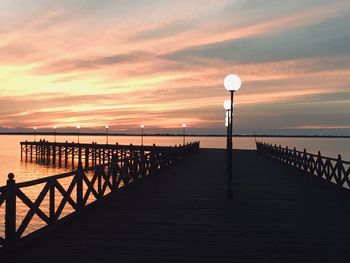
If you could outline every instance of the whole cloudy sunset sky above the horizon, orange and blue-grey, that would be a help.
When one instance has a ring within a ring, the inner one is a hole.
[[[348,0],[1,0],[0,131],[350,135]]]

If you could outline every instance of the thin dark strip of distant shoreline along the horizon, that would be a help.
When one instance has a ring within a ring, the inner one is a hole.
[[[33,132],[0,132],[0,135],[33,135]],[[37,132],[36,135],[49,135],[54,136],[53,132]],[[76,136],[76,132],[57,132],[57,136]],[[79,136],[106,136],[106,133],[80,133]],[[127,133],[109,133],[108,136],[140,136],[140,134],[127,134]],[[149,137],[178,137],[183,134],[144,134]],[[350,135],[274,135],[274,134],[235,134],[235,137],[266,137],[266,138],[350,138]],[[226,137],[224,134],[186,134],[186,137]]]

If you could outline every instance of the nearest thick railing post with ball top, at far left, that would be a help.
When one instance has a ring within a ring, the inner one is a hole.
[[[5,241],[12,245],[16,241],[16,181],[10,173],[7,179],[5,206]]]

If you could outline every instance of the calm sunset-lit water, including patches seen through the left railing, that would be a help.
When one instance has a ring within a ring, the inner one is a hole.
[[[37,136],[37,140],[45,139],[53,141],[53,136]],[[350,160],[350,139],[328,139],[328,138],[257,138],[264,142],[270,142],[273,144],[281,144],[282,146],[296,147],[299,150],[307,149],[308,152],[321,153],[325,156],[337,157],[338,154],[342,154],[343,159]],[[49,175],[59,174],[62,172],[69,171],[69,168],[58,168],[52,166],[38,165],[35,163],[21,162],[20,156],[20,141],[33,140],[32,136],[11,136],[2,135],[0,136],[0,185],[6,184],[7,174],[12,172],[15,174],[17,182],[29,181],[40,177],[46,177]],[[76,136],[57,136],[58,142],[65,141],[77,141]],[[226,139],[224,137],[187,137],[187,141],[201,141],[202,148],[225,148]],[[91,143],[92,141],[97,143],[105,143],[106,138],[103,136],[81,136],[80,142]],[[109,137],[109,143],[115,144],[140,144],[139,136],[120,136],[120,137]],[[179,145],[182,143],[182,137],[145,137],[145,145]],[[242,138],[238,137],[234,139],[235,149],[255,149],[254,138]],[[91,175],[88,175],[91,176]],[[66,180],[66,179],[65,179]],[[67,187],[70,183],[70,179],[67,181],[60,181],[63,187]],[[31,199],[35,200],[38,193],[43,188],[43,184],[28,187],[22,190]],[[75,200],[74,191],[72,198]],[[91,201],[93,201],[91,199]],[[58,206],[60,199],[56,199],[56,206]],[[49,207],[49,200],[46,197],[40,208],[47,212]],[[64,209],[61,217],[73,212],[69,205]],[[23,205],[17,198],[17,227],[22,222],[26,213],[28,213],[28,207]],[[45,224],[37,217],[34,216],[30,222],[25,234],[28,234]],[[0,236],[4,237],[4,205],[0,207]]]

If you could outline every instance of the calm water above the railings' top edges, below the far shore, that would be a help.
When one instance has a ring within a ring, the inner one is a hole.
[[[37,136],[37,140],[45,139],[53,141],[53,136]],[[321,153],[329,157],[337,157],[342,154],[344,160],[350,160],[350,139],[338,138],[257,138],[273,144],[282,146],[296,147],[308,152]],[[16,176],[16,181],[28,181],[39,177],[66,172],[66,168],[55,168],[52,166],[38,165],[35,163],[21,162],[20,159],[20,141],[33,140],[33,136],[2,135],[0,136],[0,185],[4,185],[7,174],[12,172]],[[58,142],[77,141],[76,136],[57,136]],[[225,148],[226,140],[224,137],[187,137],[188,141],[201,141],[202,148]],[[80,142],[105,143],[106,138],[103,136],[80,136]],[[140,144],[138,136],[110,136],[109,143],[115,144]],[[182,137],[144,137],[146,145],[176,145],[182,143]],[[234,139],[236,149],[255,149],[254,138],[237,137]]]

